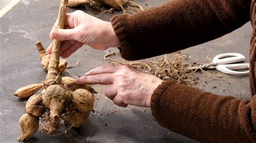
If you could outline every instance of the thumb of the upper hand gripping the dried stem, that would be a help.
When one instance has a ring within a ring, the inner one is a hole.
[[[56,29],[50,34],[51,39],[56,39],[59,41],[65,40],[75,40],[76,30],[73,29]]]

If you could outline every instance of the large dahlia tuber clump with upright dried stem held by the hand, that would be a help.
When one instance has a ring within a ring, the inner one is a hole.
[[[61,0],[57,28],[64,28],[67,9],[68,0]],[[48,74],[42,83],[20,88],[14,94],[21,98],[32,95],[26,103],[26,113],[19,119],[22,133],[17,138],[18,141],[30,139],[38,128],[53,135],[66,123],[71,127],[82,126],[93,110],[95,90],[89,85],[76,85],[74,78],[62,77],[67,62],[59,60],[61,44],[62,42],[55,40],[51,55],[47,55],[42,43],[36,42],[39,58]],[[35,94],[41,88],[44,88],[42,93]]]

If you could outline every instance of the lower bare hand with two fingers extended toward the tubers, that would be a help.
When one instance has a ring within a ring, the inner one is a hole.
[[[105,95],[122,107],[150,107],[151,95],[161,82],[160,78],[127,65],[105,65],[76,79],[76,84],[111,85]]]

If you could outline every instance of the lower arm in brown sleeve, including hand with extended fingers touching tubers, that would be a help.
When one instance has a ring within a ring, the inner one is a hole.
[[[160,125],[200,142],[256,140],[256,97],[214,95],[124,65],[92,69],[76,84],[110,85],[105,95],[114,104],[151,107]]]

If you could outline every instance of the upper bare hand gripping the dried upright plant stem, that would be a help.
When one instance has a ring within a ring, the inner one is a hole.
[[[66,14],[64,30],[53,26],[50,38],[63,41],[60,49],[62,58],[68,58],[83,44],[101,50],[120,46],[110,22],[105,22],[80,10]],[[48,54],[51,53],[52,44],[53,42],[46,50]]]

